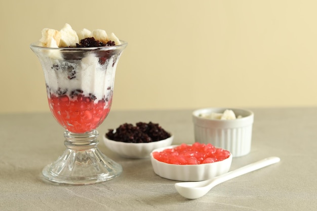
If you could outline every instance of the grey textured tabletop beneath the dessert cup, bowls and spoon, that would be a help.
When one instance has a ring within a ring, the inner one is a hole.
[[[252,109],[252,108],[251,108]],[[50,113],[0,115],[0,210],[317,210],[317,108],[257,108],[251,153],[231,170],[268,156],[281,162],[214,187],[202,198],[180,196],[175,181],[154,174],[149,159],[125,159],[102,142],[124,122],[153,121],[193,143],[192,110],[111,111],[98,128],[99,148],[123,173],[95,185],[57,185],[42,168],[64,150],[63,129]]]

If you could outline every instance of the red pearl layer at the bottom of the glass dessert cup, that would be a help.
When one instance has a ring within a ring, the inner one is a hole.
[[[95,130],[108,115],[111,99],[94,102],[91,96],[50,95],[50,109],[55,119],[69,132],[85,133]]]

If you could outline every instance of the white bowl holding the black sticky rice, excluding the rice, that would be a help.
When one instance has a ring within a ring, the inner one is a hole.
[[[113,141],[103,136],[103,141],[111,151],[116,152],[122,157],[147,158],[150,156],[151,151],[153,151],[154,149],[170,146],[173,142],[173,138],[174,136],[171,134],[170,138],[161,141],[154,141],[149,143],[126,143]]]

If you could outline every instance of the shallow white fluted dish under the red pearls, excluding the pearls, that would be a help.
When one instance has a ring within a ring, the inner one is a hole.
[[[155,149],[153,152],[160,152],[174,147],[177,147],[177,145]],[[227,173],[232,161],[232,155],[230,154],[228,158],[213,163],[178,165],[156,160],[152,153],[151,163],[154,173],[160,177],[177,181],[203,181],[211,179]]]

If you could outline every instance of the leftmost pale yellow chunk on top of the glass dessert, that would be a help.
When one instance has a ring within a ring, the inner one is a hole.
[[[61,39],[61,32],[55,29],[44,28],[42,38],[39,40],[43,47],[58,48]]]

